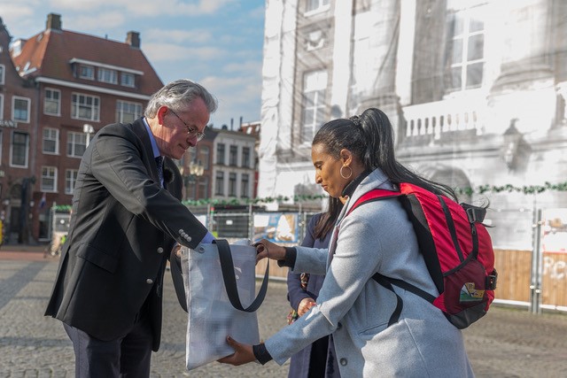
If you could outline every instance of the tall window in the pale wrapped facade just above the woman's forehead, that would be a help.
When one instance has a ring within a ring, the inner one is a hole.
[[[325,117],[325,90],[327,73],[315,71],[303,78],[303,132],[302,143],[311,143]]]

